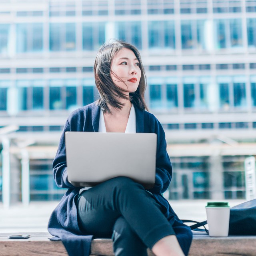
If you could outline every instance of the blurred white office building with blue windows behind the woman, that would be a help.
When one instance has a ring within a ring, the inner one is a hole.
[[[94,58],[110,38],[142,54],[146,101],[174,168],[166,196],[245,198],[256,0],[1,0],[0,127],[10,131],[0,128],[0,200],[64,194],[52,160],[68,114],[97,98]]]

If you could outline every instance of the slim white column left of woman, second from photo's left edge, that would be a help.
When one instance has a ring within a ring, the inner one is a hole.
[[[22,204],[28,206],[30,202],[30,182],[29,182],[29,155],[26,149],[21,151],[21,196]]]

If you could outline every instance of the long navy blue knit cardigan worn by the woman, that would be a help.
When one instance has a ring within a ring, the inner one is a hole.
[[[136,113],[136,132],[153,132],[157,134],[156,183],[149,191],[163,206],[164,215],[172,224],[174,232],[184,254],[188,254],[192,241],[192,232],[178,219],[168,201],[161,195],[170,185],[172,165],[166,151],[164,130],[156,117],[142,111],[134,105]],[[88,256],[90,254],[91,234],[82,234],[78,227],[76,200],[80,188],[68,182],[66,172],[66,149],[64,134],[66,131],[98,132],[100,107],[96,102],[78,108],[70,114],[64,126],[56,156],[53,161],[53,176],[58,187],[68,188],[62,200],[50,216],[48,231],[54,238],[62,240],[68,255]]]

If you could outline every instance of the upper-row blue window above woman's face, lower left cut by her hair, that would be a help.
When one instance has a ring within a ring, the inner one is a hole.
[[[142,47],[141,22],[117,22],[117,37],[136,46]]]

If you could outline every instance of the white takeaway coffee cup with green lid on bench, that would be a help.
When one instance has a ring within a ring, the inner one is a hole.
[[[210,236],[228,236],[230,207],[228,202],[208,202],[206,208]]]

